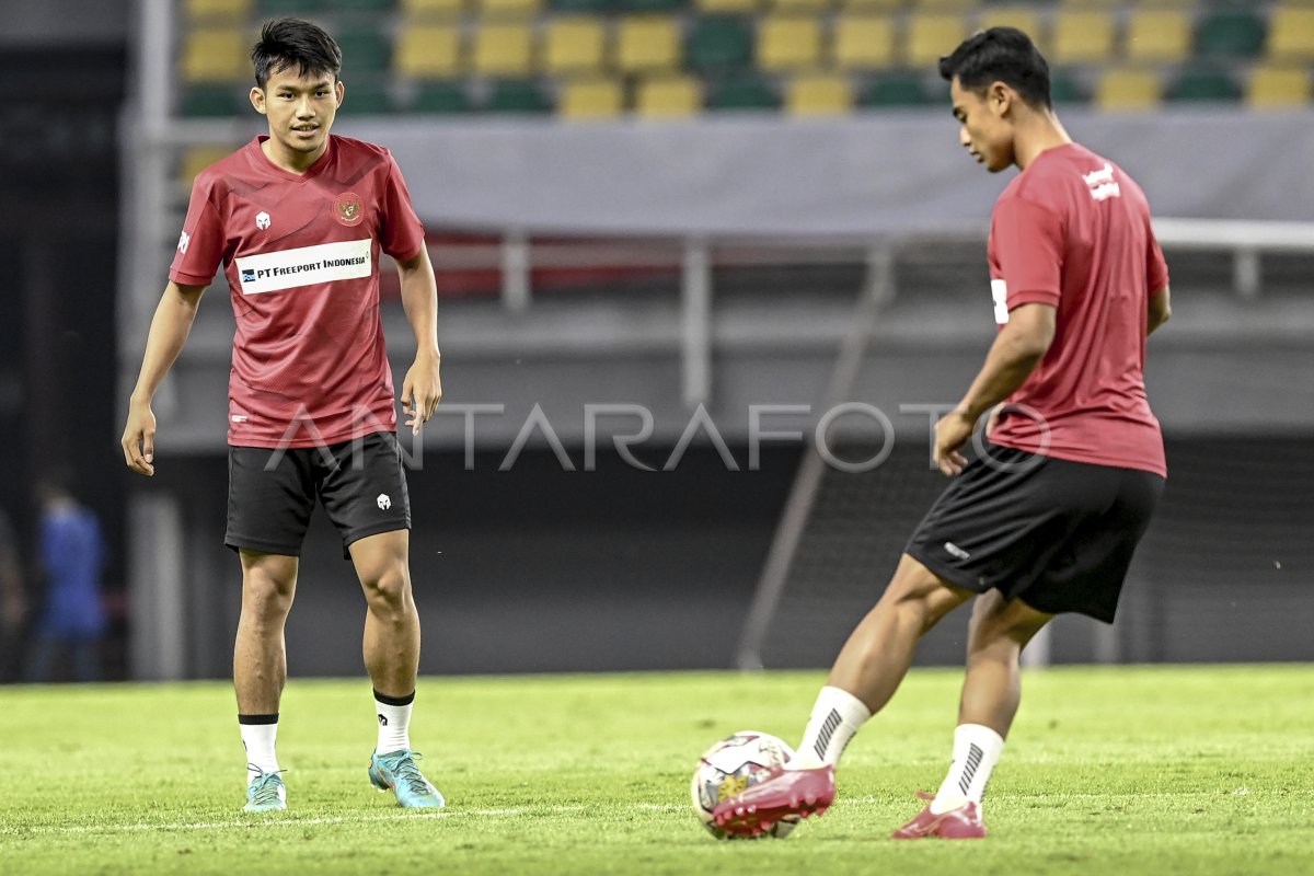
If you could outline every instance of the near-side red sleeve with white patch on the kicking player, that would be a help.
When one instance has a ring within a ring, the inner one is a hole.
[[[1026,303],[1058,307],[1063,294],[1063,229],[1038,204],[1010,197],[995,205],[991,246],[1008,310]]]

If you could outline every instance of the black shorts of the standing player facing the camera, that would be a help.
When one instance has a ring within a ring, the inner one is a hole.
[[[301,556],[315,499],[342,536],[343,556],[365,536],[410,529],[401,448],[392,432],[327,447],[229,448],[229,531],[223,544]]]

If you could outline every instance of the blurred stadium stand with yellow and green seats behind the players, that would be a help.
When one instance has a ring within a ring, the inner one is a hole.
[[[934,64],[997,24],[1146,189],[1173,278],[1147,368],[1171,478],[1118,624],[1060,619],[1029,654],[1314,657],[1314,3],[0,12],[5,680],[230,671],[222,274],[155,402],[159,474],[117,441],[191,181],[265,130],[247,53],[284,14],[336,35],[334,130],[393,150],[428,230],[445,398],[403,441],[423,671],[829,665],[943,487],[929,411],[995,331],[1013,172],[963,154]],[[384,319],[399,376],[390,264]],[[292,674],[360,674],[363,616],[317,516]],[[920,661],[959,662],[964,621]]]

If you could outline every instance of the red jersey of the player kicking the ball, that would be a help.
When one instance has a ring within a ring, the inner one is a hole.
[[[1000,326],[1025,303],[1058,310],[1053,345],[991,440],[1167,477],[1143,374],[1148,301],[1168,267],[1135,181],[1075,143],[1041,152],[995,204],[989,276]]]

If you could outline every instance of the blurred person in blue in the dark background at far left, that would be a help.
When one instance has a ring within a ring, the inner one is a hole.
[[[100,640],[108,628],[101,605],[105,540],[96,515],[80,504],[62,478],[38,487],[41,527],[37,561],[45,578],[33,628],[26,680],[50,680],[60,651],[72,659],[74,678],[100,676]]]

